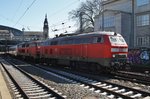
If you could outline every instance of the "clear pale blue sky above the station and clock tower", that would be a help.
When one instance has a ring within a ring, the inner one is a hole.
[[[0,0],[0,25],[10,26],[17,29],[30,31],[42,31],[43,21],[47,13],[49,31],[71,26],[72,31],[76,28],[75,21],[68,20],[68,12],[79,7],[85,0],[36,0],[26,14],[19,20],[26,9],[34,0]],[[18,22],[19,20],[19,22]],[[65,23],[62,25],[62,23]]]

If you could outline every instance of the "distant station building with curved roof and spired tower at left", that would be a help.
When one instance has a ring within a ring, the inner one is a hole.
[[[47,15],[43,24],[43,31],[25,31],[0,25],[0,40],[13,40],[13,41],[33,41],[33,40],[45,40],[48,38],[49,27],[47,21]]]

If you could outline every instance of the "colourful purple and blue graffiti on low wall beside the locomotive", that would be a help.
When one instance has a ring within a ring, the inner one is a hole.
[[[150,50],[131,49],[128,52],[128,59],[132,64],[149,64]]]

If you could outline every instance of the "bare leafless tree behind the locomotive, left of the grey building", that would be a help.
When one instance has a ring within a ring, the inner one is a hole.
[[[80,32],[89,27],[94,29],[94,17],[101,12],[101,1],[87,0],[82,2],[78,9],[69,12],[71,19],[80,24]]]

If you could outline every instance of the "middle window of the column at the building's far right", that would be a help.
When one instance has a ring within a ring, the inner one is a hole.
[[[137,16],[137,26],[149,25],[149,14]]]

